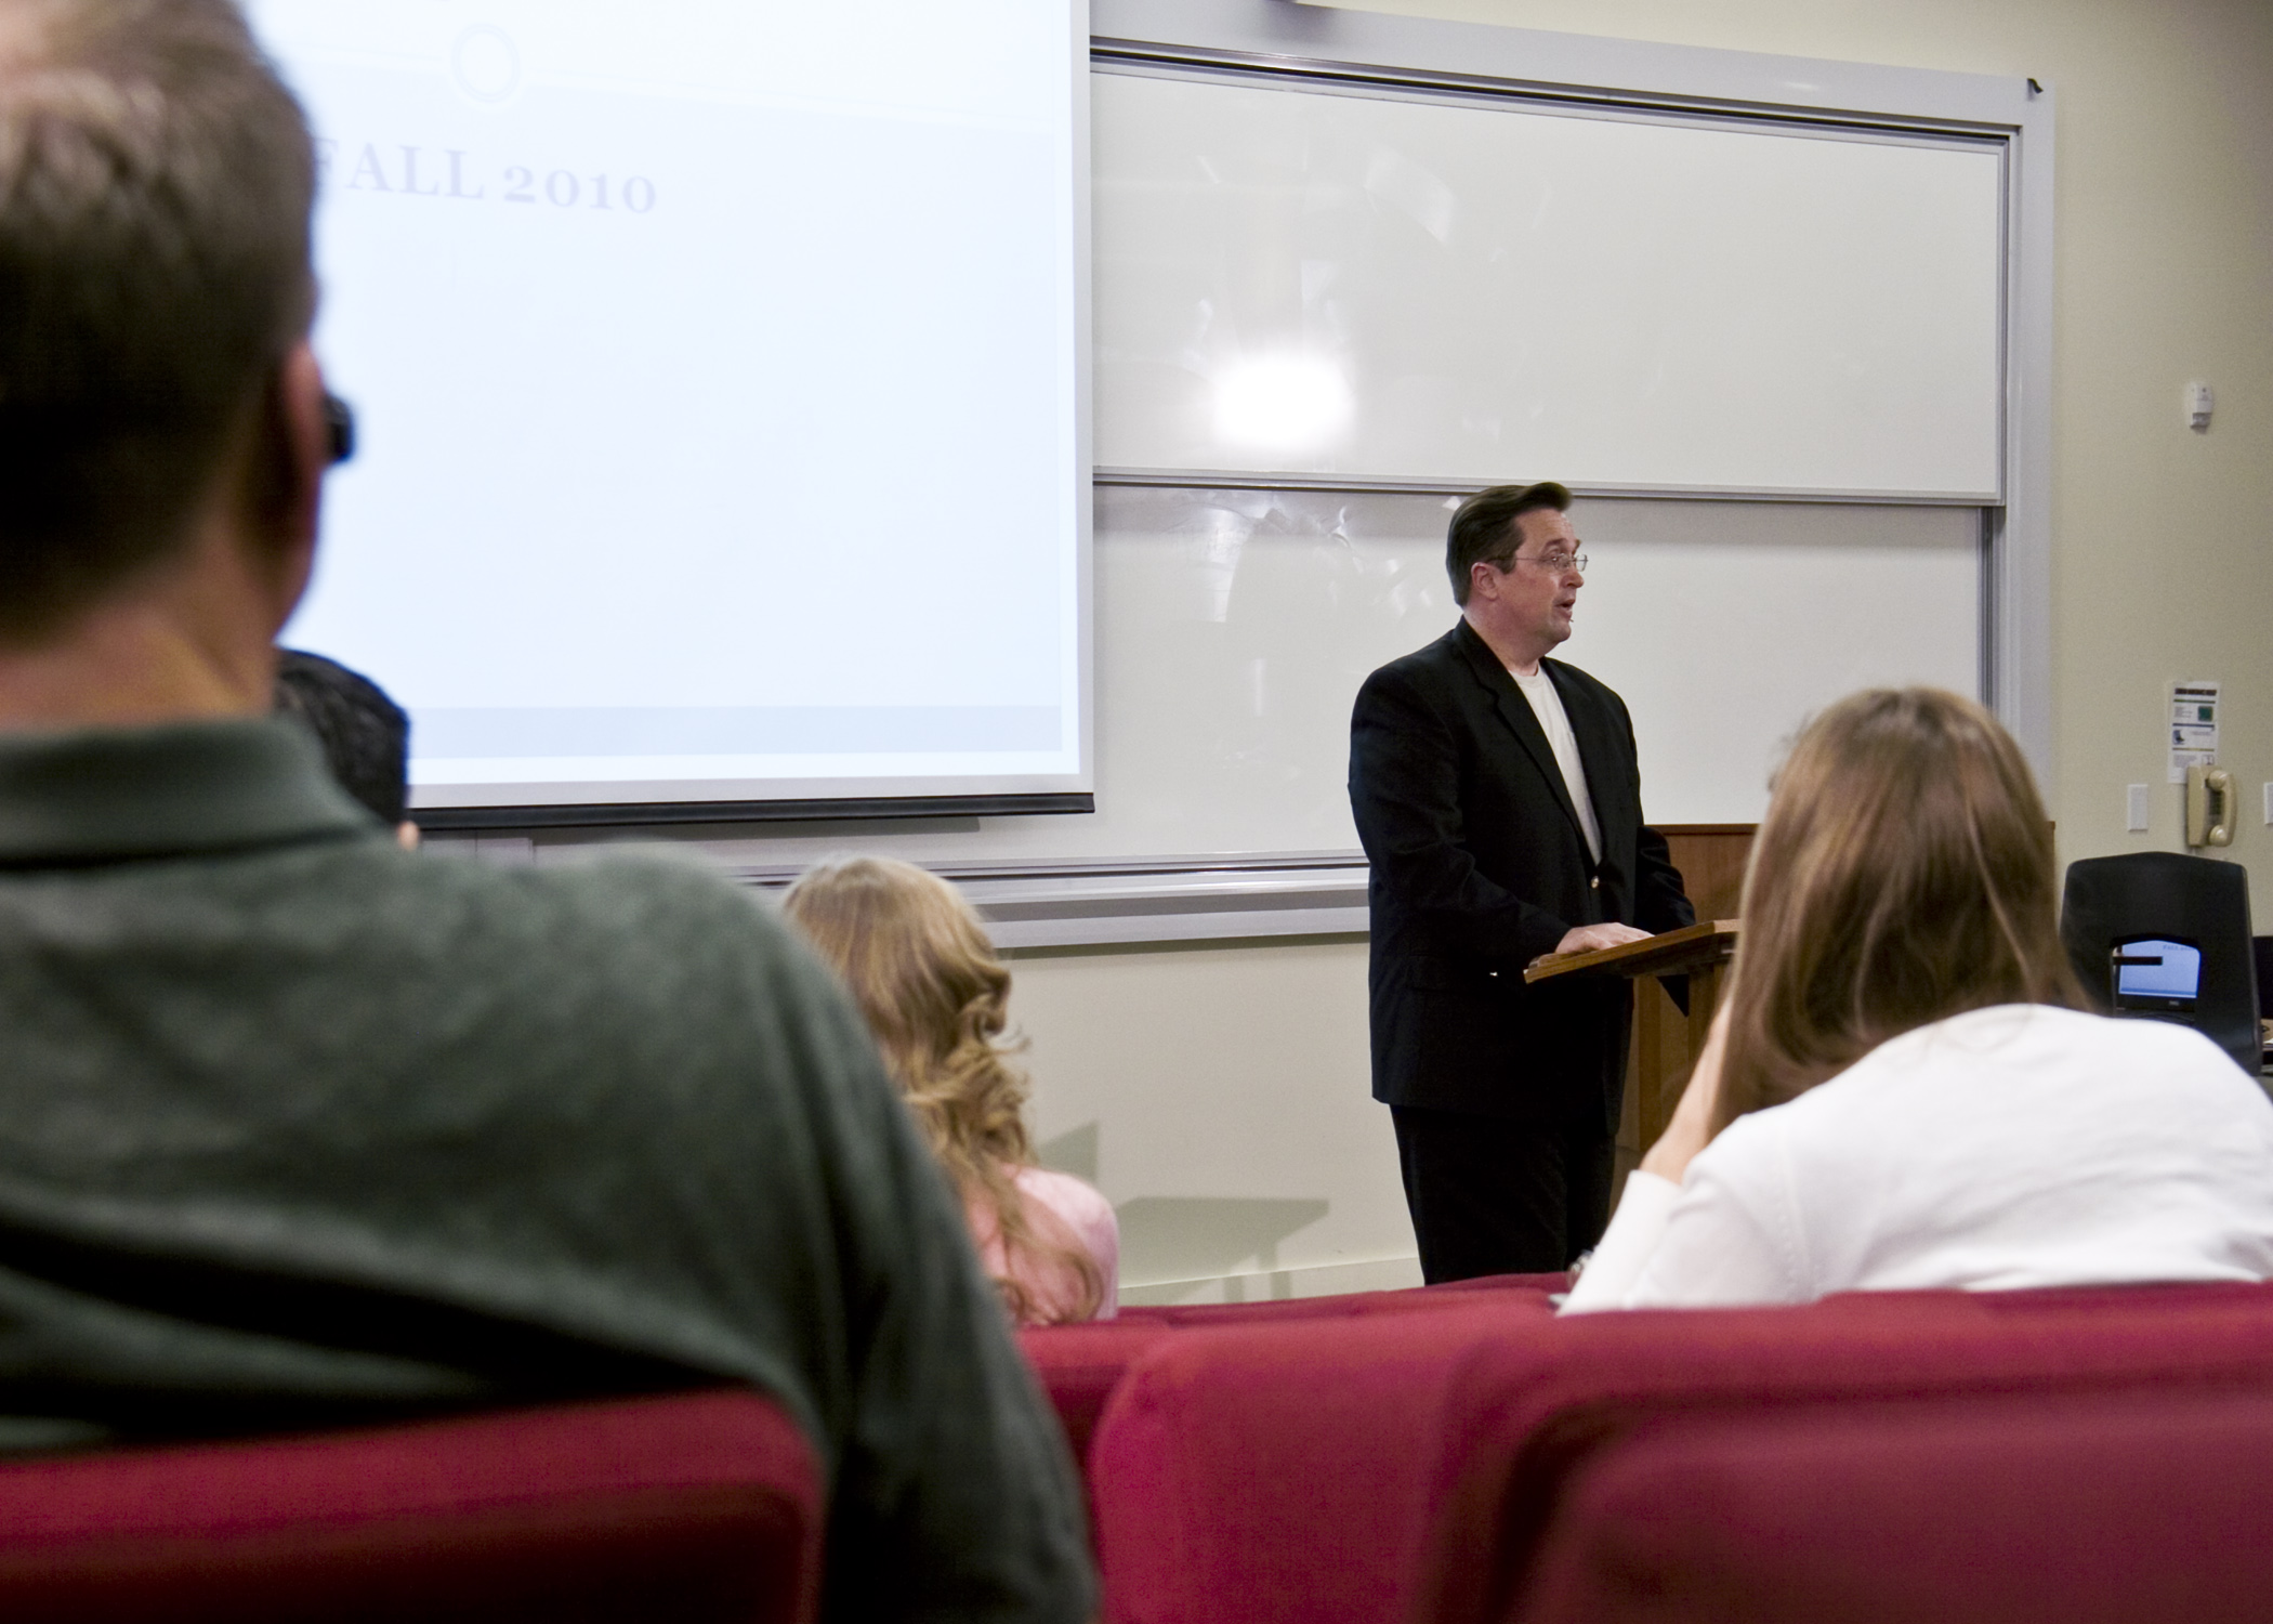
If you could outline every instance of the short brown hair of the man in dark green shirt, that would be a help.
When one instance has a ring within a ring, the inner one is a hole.
[[[307,330],[314,173],[230,0],[0,0],[0,637],[186,539]]]

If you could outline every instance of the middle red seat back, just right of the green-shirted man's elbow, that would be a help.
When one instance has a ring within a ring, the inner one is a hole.
[[[1400,1617],[1446,1378],[1475,1347],[1552,1328],[1539,1292],[1475,1292],[1162,1337],[1089,1458],[1107,1619]]]

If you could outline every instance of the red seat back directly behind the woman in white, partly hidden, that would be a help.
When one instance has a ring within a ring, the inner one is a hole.
[[[1527,1615],[1550,1522],[1652,1426],[1914,1399],[2273,1394],[2273,1292],[1855,1294],[1809,1308],[1596,1315],[1468,1349],[1446,1387],[1418,1619]]]

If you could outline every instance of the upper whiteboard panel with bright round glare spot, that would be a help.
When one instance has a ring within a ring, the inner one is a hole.
[[[1102,71],[1107,469],[2000,489],[2000,143]]]

